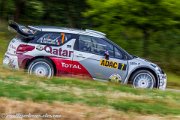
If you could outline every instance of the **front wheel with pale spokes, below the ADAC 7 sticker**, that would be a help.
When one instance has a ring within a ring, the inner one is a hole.
[[[156,84],[154,75],[147,70],[139,70],[131,77],[134,88],[148,88],[152,89]]]

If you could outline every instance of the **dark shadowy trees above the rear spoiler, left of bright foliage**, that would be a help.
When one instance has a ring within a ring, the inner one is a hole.
[[[0,0],[0,19],[80,28],[86,7],[85,0]]]

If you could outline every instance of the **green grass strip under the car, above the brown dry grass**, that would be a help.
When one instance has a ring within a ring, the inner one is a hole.
[[[0,62],[11,35],[0,31]],[[168,73],[168,87],[179,88],[180,76]],[[44,79],[0,65],[0,97],[34,102],[56,101],[112,108],[140,114],[180,115],[180,93],[133,89],[129,86],[79,80]]]

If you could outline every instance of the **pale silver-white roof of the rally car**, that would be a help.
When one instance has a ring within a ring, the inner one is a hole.
[[[65,32],[65,33],[73,33],[73,34],[81,34],[81,35],[89,35],[94,37],[104,38],[105,34],[95,30],[82,30],[82,29],[74,29],[74,28],[66,28],[66,27],[56,27],[56,26],[32,26],[43,32]]]

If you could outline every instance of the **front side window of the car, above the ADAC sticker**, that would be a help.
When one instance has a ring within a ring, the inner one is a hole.
[[[102,56],[108,51],[110,57],[114,57],[113,45],[101,38],[81,35],[79,37],[79,50]]]

